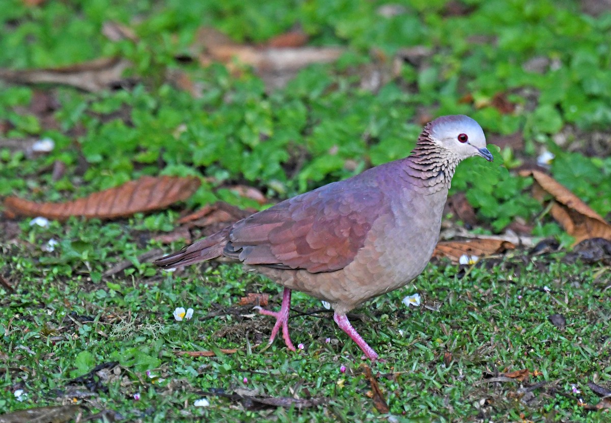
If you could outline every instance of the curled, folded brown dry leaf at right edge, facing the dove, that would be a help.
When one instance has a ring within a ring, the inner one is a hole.
[[[573,192],[566,189],[551,176],[539,170],[522,170],[521,176],[532,176],[536,181],[533,187],[533,195],[537,195],[536,189],[543,189],[554,197],[551,208],[552,217],[557,220],[565,231],[575,238],[574,244],[579,244],[584,239],[604,238],[611,240],[611,225],[593,211],[584,201],[581,201]]]

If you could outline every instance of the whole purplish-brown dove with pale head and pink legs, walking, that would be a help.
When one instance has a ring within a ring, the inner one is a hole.
[[[493,160],[480,125],[466,115],[427,123],[411,153],[288,198],[155,261],[164,268],[224,256],[284,286],[268,346],[288,330],[291,291],[329,303],[333,319],[371,361],[378,353],[346,314],[405,286],[425,269],[439,238],[448,189],[467,157]]]

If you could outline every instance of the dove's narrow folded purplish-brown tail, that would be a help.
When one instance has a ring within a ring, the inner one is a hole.
[[[169,267],[188,266],[199,261],[207,261],[222,255],[223,248],[229,242],[232,226],[222,231],[186,245],[182,250],[153,261],[153,264],[165,269]]]

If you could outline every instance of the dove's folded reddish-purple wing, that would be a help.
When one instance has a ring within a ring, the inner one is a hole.
[[[332,272],[343,269],[384,213],[376,186],[329,184],[236,223],[224,255],[245,264]]]

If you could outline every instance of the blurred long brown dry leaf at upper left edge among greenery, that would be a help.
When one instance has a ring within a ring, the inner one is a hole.
[[[122,85],[123,71],[130,62],[119,57],[102,57],[90,62],[61,68],[13,70],[0,69],[0,79],[14,84],[70,85],[90,92]]]

